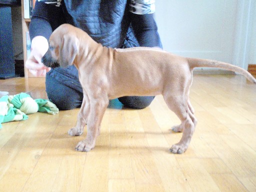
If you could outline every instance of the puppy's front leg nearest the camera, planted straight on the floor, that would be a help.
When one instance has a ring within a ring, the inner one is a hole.
[[[107,97],[90,100],[90,112],[87,123],[87,135],[84,140],[78,142],[78,144],[75,147],[76,150],[89,151],[95,146],[99,126],[107,105]]]

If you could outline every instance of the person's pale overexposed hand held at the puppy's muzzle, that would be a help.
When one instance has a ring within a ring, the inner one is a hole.
[[[50,67],[41,62],[42,56],[48,49],[48,41],[43,36],[35,36],[31,41],[31,53],[25,62],[25,66],[34,76],[45,76]]]

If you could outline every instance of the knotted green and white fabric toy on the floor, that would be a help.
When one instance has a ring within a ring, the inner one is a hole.
[[[13,120],[26,120],[27,114],[34,112],[58,113],[58,108],[49,100],[32,99],[29,94],[19,93],[0,97],[0,128],[1,123]]]

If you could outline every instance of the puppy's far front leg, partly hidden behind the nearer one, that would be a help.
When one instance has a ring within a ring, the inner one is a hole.
[[[83,99],[80,107],[80,111],[77,115],[76,124],[73,128],[68,130],[68,134],[71,136],[79,136],[83,133],[83,128],[87,122],[88,114],[90,110],[90,103],[88,99],[88,95],[85,91],[83,91]]]

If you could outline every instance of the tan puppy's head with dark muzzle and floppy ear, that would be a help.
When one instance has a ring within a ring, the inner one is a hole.
[[[56,28],[49,38],[49,48],[41,62],[48,67],[72,65],[78,53],[78,39],[69,25]]]

